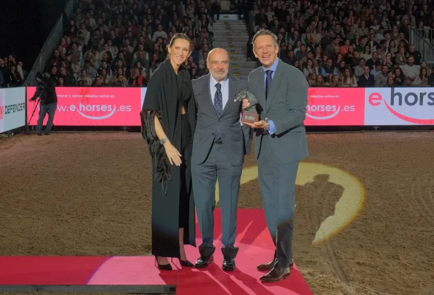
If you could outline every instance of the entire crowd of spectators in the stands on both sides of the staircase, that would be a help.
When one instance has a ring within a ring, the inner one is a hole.
[[[267,28],[278,37],[279,57],[312,87],[392,87],[434,86],[434,68],[408,42],[411,28],[434,29],[430,3],[232,0],[232,7],[247,24],[247,60],[255,59],[252,36]],[[44,72],[58,86],[146,87],[168,41],[184,32],[193,50],[187,68],[196,79],[209,72],[219,12],[219,0],[81,0]],[[23,79],[14,64],[13,56],[0,59],[5,83]]]

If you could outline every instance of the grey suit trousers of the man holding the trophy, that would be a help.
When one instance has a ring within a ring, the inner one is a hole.
[[[262,136],[258,155],[258,180],[265,221],[276,245],[274,267],[289,267],[292,261],[295,181],[299,161],[282,163],[271,146],[271,135]]]

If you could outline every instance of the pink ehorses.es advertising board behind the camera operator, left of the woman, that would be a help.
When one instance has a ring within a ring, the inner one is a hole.
[[[140,88],[77,88],[58,87],[57,110],[53,123],[64,126],[140,126]],[[27,90],[27,99],[35,87]],[[35,111],[30,125],[37,125],[40,105],[28,102],[28,118]],[[44,121],[44,125],[48,116]]]

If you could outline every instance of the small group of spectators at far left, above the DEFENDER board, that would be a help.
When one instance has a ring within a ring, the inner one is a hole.
[[[15,54],[0,57],[0,88],[21,86],[27,74],[23,69],[23,62],[17,62]]]

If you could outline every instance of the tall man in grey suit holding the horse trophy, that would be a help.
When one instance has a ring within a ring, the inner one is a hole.
[[[249,91],[259,101],[260,121],[246,123],[256,129],[255,156],[265,220],[276,245],[274,259],[258,265],[268,270],[261,281],[276,282],[290,275],[294,264],[295,181],[299,161],[308,156],[305,119],[308,81],[303,73],[277,57],[276,35],[259,30],[253,52],[262,66],[249,74]]]

